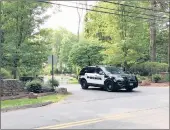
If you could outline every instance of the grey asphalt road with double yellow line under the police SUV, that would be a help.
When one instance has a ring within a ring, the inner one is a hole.
[[[139,87],[134,92],[81,90],[41,108],[1,113],[2,129],[169,129],[169,88]]]

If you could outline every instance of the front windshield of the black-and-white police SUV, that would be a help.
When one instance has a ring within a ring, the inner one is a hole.
[[[103,71],[105,73],[111,73],[111,74],[122,74],[124,73],[123,70],[121,70],[120,68],[111,66],[111,67],[103,67]]]

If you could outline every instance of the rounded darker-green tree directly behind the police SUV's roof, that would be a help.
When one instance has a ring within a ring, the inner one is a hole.
[[[84,40],[76,43],[69,55],[70,63],[79,67],[101,64],[103,47],[96,45],[96,42]]]

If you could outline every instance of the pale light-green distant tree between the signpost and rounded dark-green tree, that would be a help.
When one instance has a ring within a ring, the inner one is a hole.
[[[53,37],[53,38],[52,38]],[[54,39],[55,54],[57,56],[58,70],[62,72],[65,69],[71,69],[68,62],[68,55],[73,47],[73,44],[77,41],[77,36],[72,32],[60,27],[54,30],[54,34],[51,38]]]

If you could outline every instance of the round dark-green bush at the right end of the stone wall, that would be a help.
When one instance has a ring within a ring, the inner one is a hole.
[[[42,92],[42,82],[38,79],[26,83],[26,88],[29,92],[40,93]]]

